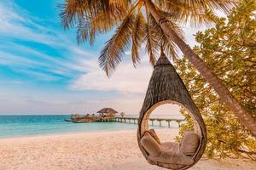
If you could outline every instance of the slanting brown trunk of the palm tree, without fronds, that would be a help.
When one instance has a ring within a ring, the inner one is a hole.
[[[240,119],[245,127],[253,133],[253,136],[256,136],[256,120],[253,118],[253,115],[250,114],[230,93],[229,89],[224,86],[222,80],[220,80],[207,66],[207,64],[200,59],[200,57],[195,54],[195,52],[189,47],[186,42],[183,42],[183,39],[177,36],[177,33],[172,30],[168,25],[165,18],[158,12],[155,8],[154,3],[151,0],[145,0],[150,13],[153,15],[154,20],[156,20],[164,31],[166,38],[172,42],[175,42],[178,48],[181,49],[183,54],[189,61],[195,66],[197,71],[201,73],[201,76],[204,77],[207,82],[212,86],[215,92],[218,94],[220,99],[230,108],[231,111]]]

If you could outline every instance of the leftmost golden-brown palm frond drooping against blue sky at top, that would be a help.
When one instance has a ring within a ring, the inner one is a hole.
[[[62,26],[77,26],[77,40],[90,40],[92,44],[98,32],[108,32],[119,24],[127,13],[131,0],[67,0],[61,8]]]

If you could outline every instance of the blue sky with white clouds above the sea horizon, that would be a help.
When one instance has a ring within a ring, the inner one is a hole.
[[[137,114],[153,71],[148,55],[142,52],[134,68],[128,50],[108,78],[97,58],[111,32],[92,46],[78,45],[75,30],[61,27],[57,5],[63,2],[0,1],[0,115],[95,113],[103,107]],[[190,45],[197,30],[183,27]],[[178,108],[160,112],[170,110]]]

